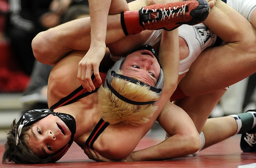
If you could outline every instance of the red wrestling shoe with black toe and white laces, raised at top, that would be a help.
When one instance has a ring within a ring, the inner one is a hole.
[[[171,31],[182,24],[195,25],[204,21],[209,10],[210,6],[205,0],[149,5],[139,10],[140,25],[147,30]]]

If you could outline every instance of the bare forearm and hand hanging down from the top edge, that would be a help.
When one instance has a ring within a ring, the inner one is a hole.
[[[78,64],[77,78],[82,86],[91,92],[95,90],[91,80],[92,70],[98,83],[102,82],[99,66],[106,52],[107,19],[111,0],[88,0],[88,2],[91,17],[91,44],[89,51]]]

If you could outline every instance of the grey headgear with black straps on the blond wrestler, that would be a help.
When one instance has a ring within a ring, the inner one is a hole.
[[[159,72],[159,78],[158,78],[158,81],[156,83],[156,86],[153,87],[153,86],[150,86],[148,84],[145,84],[144,82],[141,82],[139,80],[136,80],[136,79],[133,79],[131,77],[128,77],[128,76],[124,76],[124,75],[121,75],[121,74],[117,74],[118,70],[121,69],[121,66],[122,64],[124,63],[124,60],[126,58],[127,54],[125,57],[121,58],[120,60],[118,60],[109,70],[108,70],[108,73],[107,73],[107,76],[106,76],[106,80],[105,80],[105,84],[104,84],[104,87],[108,87],[110,89],[111,92],[113,92],[116,97],[118,97],[119,99],[127,102],[127,103],[130,103],[130,104],[133,104],[133,105],[146,105],[146,104],[154,104],[156,101],[147,101],[147,102],[138,102],[138,101],[132,101],[132,100],[129,100],[127,98],[125,98],[124,96],[122,96],[121,94],[119,94],[112,86],[111,86],[111,83],[112,83],[112,80],[114,77],[117,77],[117,78],[121,78],[121,79],[124,79],[124,80],[127,80],[129,82],[132,82],[134,84],[139,84],[141,86],[148,86],[149,89],[153,92],[156,92],[157,94],[161,94],[162,92],[162,89],[163,89],[163,85],[164,85],[164,72],[163,72],[163,69],[162,69],[162,65],[158,59],[158,56],[156,55],[156,52],[154,50],[154,48],[151,46],[151,45],[142,45],[139,49],[135,50],[135,51],[139,51],[139,50],[148,50],[150,52],[153,53],[153,55],[156,57],[159,65],[160,65],[160,72]],[[135,52],[134,51],[134,52]]]

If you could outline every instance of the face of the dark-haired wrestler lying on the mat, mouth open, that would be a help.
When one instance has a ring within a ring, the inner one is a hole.
[[[35,122],[28,130],[28,147],[37,156],[53,154],[70,140],[71,132],[67,125],[52,114]]]

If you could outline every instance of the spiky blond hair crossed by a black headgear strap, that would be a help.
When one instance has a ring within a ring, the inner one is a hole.
[[[159,96],[156,92],[149,90],[148,86],[133,84],[120,78],[114,78],[111,86],[122,96],[129,100],[138,102],[156,101]],[[156,111],[157,106],[129,104],[112,93],[108,88],[100,87],[99,107],[104,121],[110,124],[140,125],[149,121],[149,118]]]

